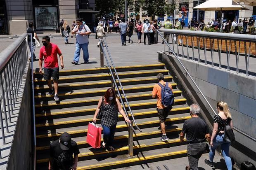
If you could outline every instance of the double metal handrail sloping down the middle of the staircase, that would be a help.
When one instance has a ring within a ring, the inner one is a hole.
[[[111,73],[111,77],[112,77],[113,82],[114,82],[114,84],[115,84],[115,86],[116,86],[117,93],[118,93],[118,95],[120,96],[120,100],[121,100],[121,103],[122,103],[122,105],[123,105],[123,110],[124,110],[126,116],[129,117],[129,115],[128,115],[127,111],[126,111],[125,104],[124,104],[124,102],[123,102],[122,96],[121,96],[121,94],[120,94],[120,92],[119,92],[119,88],[118,88],[118,86],[117,86],[117,84],[116,84],[114,74],[113,74],[113,72],[112,72],[112,70],[111,70],[111,66],[110,66],[109,61],[108,61],[108,59],[107,59],[106,52],[104,51],[103,43],[102,43],[101,40],[99,40],[99,42],[100,42],[100,46],[101,46],[101,48],[102,48],[102,52],[103,52],[103,54],[104,54],[104,56],[105,56],[105,59],[106,59],[106,61],[107,61],[107,65],[108,65],[109,71],[110,71],[110,73]],[[105,45],[106,45],[106,44],[105,44]],[[107,45],[106,45],[106,48],[107,48]],[[109,58],[111,58],[111,56],[109,56]],[[113,65],[113,68],[114,68],[114,65]],[[114,69],[114,70],[115,70],[115,69]],[[115,70],[115,72],[116,72],[116,70]],[[117,75],[117,72],[116,72],[116,75]],[[119,84],[121,84],[120,81],[119,81]],[[127,103],[127,105],[129,105],[129,103]],[[132,115],[132,112],[131,112],[131,115]],[[135,122],[134,118],[133,118],[133,121]],[[133,125],[132,125],[131,123],[129,123],[129,126],[133,129],[133,132],[136,132],[136,130],[133,128]],[[137,127],[137,126],[135,126],[135,127],[136,127],[138,130],[140,130],[139,127]]]

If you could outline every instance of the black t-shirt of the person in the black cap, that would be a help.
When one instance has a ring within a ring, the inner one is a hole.
[[[53,169],[54,170],[70,170],[73,166],[73,154],[78,155],[79,149],[75,141],[71,140],[71,148],[64,151],[59,146],[59,140],[55,140],[50,145],[50,156],[54,158]]]

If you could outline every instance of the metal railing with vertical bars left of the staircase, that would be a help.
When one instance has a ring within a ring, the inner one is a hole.
[[[14,123],[14,109],[19,107],[18,98],[22,95],[22,79],[27,65],[26,35],[22,34],[0,53],[0,126],[4,145]]]

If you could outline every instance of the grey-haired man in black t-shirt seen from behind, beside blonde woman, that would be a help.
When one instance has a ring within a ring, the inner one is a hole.
[[[189,166],[186,170],[198,170],[198,160],[206,150],[206,139],[210,141],[209,128],[205,121],[199,117],[200,107],[197,104],[190,106],[190,119],[184,121],[180,133],[180,142],[187,134],[187,157]],[[208,146],[207,146],[208,147]]]

